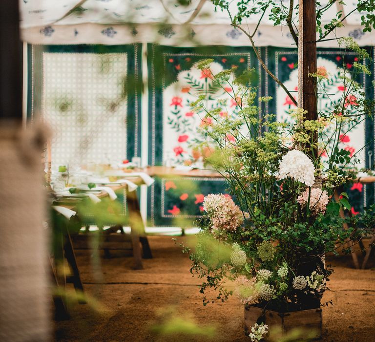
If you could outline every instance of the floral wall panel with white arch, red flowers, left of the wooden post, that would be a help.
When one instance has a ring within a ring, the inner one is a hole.
[[[210,47],[209,52],[199,48],[151,47],[149,61],[149,164],[184,165],[200,158],[194,145],[206,141],[200,129],[210,124],[205,112],[193,112],[190,104],[198,94],[208,94],[207,107],[219,107],[218,100],[226,100],[221,115],[236,112],[237,102],[231,97],[232,89],[224,85],[229,94],[212,81],[209,70],[198,70],[199,61],[212,58],[213,73],[237,66],[237,74],[253,66],[248,48]],[[202,52],[203,51],[203,52]],[[257,71],[257,70],[256,70]],[[220,106],[222,107],[222,106]],[[230,139],[230,137],[229,137]],[[204,153],[204,152],[203,152]]]

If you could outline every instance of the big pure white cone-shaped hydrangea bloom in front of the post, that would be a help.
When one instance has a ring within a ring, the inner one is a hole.
[[[280,178],[292,177],[311,187],[314,184],[314,165],[311,159],[299,150],[290,150],[283,156],[279,166]]]

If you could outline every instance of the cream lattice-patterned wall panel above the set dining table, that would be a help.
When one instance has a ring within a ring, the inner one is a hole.
[[[59,52],[55,47],[38,54],[42,56],[42,89],[36,89],[41,85],[32,81],[35,101],[30,109],[32,115],[40,112],[53,130],[52,170],[67,164],[121,163],[139,152],[139,122],[134,114],[138,95],[133,90],[128,107],[125,87],[137,72],[128,70],[135,63],[129,63],[126,51],[96,53],[91,49],[64,47]],[[38,102],[40,108],[35,108]],[[130,110],[133,115],[128,116]]]

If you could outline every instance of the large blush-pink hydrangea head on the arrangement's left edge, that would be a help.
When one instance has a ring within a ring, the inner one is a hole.
[[[203,208],[211,220],[214,235],[223,235],[224,231],[235,231],[244,221],[240,208],[233,200],[223,194],[209,194],[203,201]]]

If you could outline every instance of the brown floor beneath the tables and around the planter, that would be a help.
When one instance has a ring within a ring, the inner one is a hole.
[[[203,306],[199,280],[181,248],[170,236],[149,242],[154,258],[140,271],[131,269],[131,257],[102,259],[93,267],[88,254],[78,255],[89,302],[72,305],[72,318],[55,322],[56,341],[249,341],[238,299]],[[347,257],[330,261],[335,272],[323,301],[334,305],[323,308],[323,340],[375,341],[373,260],[367,270],[355,270]]]

